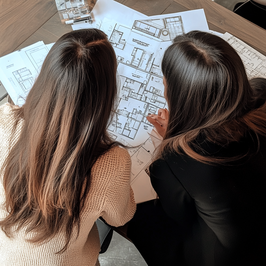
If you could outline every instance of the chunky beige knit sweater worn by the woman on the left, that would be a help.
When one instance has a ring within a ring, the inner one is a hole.
[[[0,107],[0,168],[9,154],[14,116],[9,104]],[[19,138],[23,121],[17,127],[11,147]],[[102,216],[112,226],[122,226],[134,215],[136,204],[130,187],[131,160],[128,152],[120,147],[99,157],[93,165],[91,184],[84,209],[80,216],[80,233],[74,230],[67,250],[55,254],[64,246],[64,235],[58,233],[45,244],[27,241],[31,236],[24,230],[8,238],[0,229],[0,265],[99,265],[100,242],[95,221]],[[0,219],[6,215],[3,174],[0,176]]]

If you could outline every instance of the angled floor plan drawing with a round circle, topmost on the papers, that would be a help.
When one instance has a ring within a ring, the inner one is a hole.
[[[181,16],[136,20],[132,30],[146,33],[161,41],[170,41],[185,33]]]

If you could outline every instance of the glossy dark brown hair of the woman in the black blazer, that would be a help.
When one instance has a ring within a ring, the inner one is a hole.
[[[242,60],[222,38],[200,31],[177,36],[164,53],[162,72],[169,121],[157,157],[176,151],[203,163],[222,163],[237,158],[201,155],[194,140],[203,135],[226,145],[247,131],[266,134],[266,105],[254,109],[257,95]]]

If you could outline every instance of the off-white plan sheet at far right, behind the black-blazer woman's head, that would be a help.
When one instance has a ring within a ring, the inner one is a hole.
[[[238,52],[244,63],[249,79],[256,77],[266,78],[266,56],[228,32],[226,32],[222,38],[230,43],[231,46],[235,48],[236,52]]]

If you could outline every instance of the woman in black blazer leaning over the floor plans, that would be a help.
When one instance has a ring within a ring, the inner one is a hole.
[[[177,36],[162,61],[163,142],[128,236],[150,265],[265,265],[266,80],[218,36]]]

